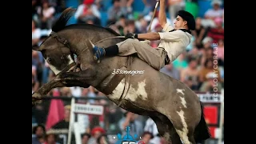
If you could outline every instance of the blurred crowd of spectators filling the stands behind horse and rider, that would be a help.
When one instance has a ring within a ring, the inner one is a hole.
[[[62,10],[72,6],[76,8],[72,23],[89,23],[110,27],[124,35],[130,33],[146,33],[153,17],[156,0],[32,0],[32,46],[39,46],[51,32],[54,20]],[[164,74],[176,78],[198,93],[213,93],[214,78],[218,78],[218,90],[224,88],[224,4],[223,0],[166,0],[167,22],[174,24],[178,10],[187,10],[196,19],[196,30],[186,52],[174,62],[166,65]],[[158,23],[158,11],[154,15],[151,30],[162,31]],[[159,41],[151,42],[157,47]],[[217,67],[216,67],[217,66]],[[214,74],[215,72],[215,74]],[[217,72],[217,73],[216,73]],[[55,77],[42,54],[32,51],[32,93],[40,86]],[[219,91],[220,92],[220,91]],[[105,98],[105,95],[90,86],[89,88],[62,87],[51,90],[49,96]],[[32,109],[33,139],[32,144],[60,142],[54,129],[68,129],[70,117],[70,101],[54,100],[42,102]],[[110,110],[114,107],[108,100],[79,100],[105,106],[102,116],[81,115],[84,130],[82,144],[102,144],[103,139],[110,141],[106,134],[125,134],[125,127],[130,125],[134,134],[142,135],[144,142],[164,144],[158,137],[158,131],[150,118],[126,112],[122,109]],[[53,106],[54,105],[54,106]],[[51,114],[52,109],[61,109],[62,114]],[[62,107],[62,108],[59,108]],[[60,115],[58,121],[56,115]],[[79,119],[78,118],[78,119]],[[86,120],[85,120],[86,119]],[[87,142],[88,141],[88,142]],[[72,140],[74,142],[74,138]],[[111,143],[111,142],[110,142]]]

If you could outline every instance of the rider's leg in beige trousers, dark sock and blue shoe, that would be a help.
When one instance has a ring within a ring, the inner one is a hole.
[[[128,56],[130,54],[138,54],[138,58],[141,58],[144,62],[147,62],[156,70],[160,70],[165,66],[166,54],[163,49],[152,48],[146,43],[139,42],[138,39],[126,39],[124,42],[119,42],[114,46],[99,48],[98,46],[90,45],[94,50],[96,59],[105,56]]]

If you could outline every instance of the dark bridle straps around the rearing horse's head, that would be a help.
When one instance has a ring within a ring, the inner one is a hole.
[[[58,40],[58,42],[61,42],[64,46],[66,46],[66,47],[68,47],[69,49],[71,48],[70,47],[70,44],[69,44],[69,42],[66,40],[66,38],[61,38],[57,33],[55,33],[54,31],[52,31],[51,33],[50,33],[50,36],[52,37],[52,38],[56,38],[57,40]],[[61,51],[62,51],[62,49],[60,49]],[[71,49],[70,49],[70,51],[71,51]],[[56,74],[56,75],[59,75],[59,74],[63,74],[63,73],[65,73],[67,70],[70,70],[73,66],[76,66],[76,62],[74,62],[74,53],[72,53],[71,52],[71,58],[72,58],[72,60],[73,60],[73,62],[71,62],[71,63],[68,63],[68,62],[66,62],[66,59],[65,59],[65,54],[62,52],[62,59],[64,59],[64,62],[65,62],[65,64],[66,64],[66,66],[64,67],[64,69],[62,69],[61,70],[61,72],[59,72],[58,74]]]

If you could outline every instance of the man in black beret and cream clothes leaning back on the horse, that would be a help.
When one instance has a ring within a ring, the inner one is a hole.
[[[165,0],[160,1],[160,10],[158,20],[164,32],[150,32],[146,34],[126,34],[126,39],[114,46],[104,48],[94,46],[92,42],[87,41],[87,46],[94,51],[94,58],[98,60],[103,56],[128,56],[138,54],[144,62],[147,62],[156,70],[173,62],[178,55],[186,50],[192,38],[190,30],[195,29],[195,21],[192,14],[185,10],[178,11],[174,27],[166,22]],[[152,48],[150,45],[140,42],[138,39],[150,41],[161,40],[158,48]]]

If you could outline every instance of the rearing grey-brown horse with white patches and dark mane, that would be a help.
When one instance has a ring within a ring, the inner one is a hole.
[[[32,50],[42,53],[56,74],[56,78],[32,94],[32,106],[41,102],[55,87],[94,86],[122,109],[152,118],[158,133],[167,142],[196,144],[210,138],[202,102],[193,90],[177,79],[154,70],[136,54],[95,61],[93,50],[87,46],[88,39],[94,45],[103,47],[124,40],[133,42],[133,39],[126,39],[102,26],[66,26],[73,13],[74,9],[64,10],[54,23],[50,36],[40,46],[32,47]]]

